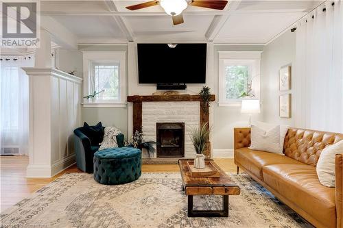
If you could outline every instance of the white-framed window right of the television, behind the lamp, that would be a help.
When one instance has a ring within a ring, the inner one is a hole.
[[[219,105],[238,106],[241,99],[259,99],[260,52],[219,54]]]

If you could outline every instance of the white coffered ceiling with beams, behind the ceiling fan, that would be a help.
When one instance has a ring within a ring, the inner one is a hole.
[[[188,6],[172,25],[160,5],[130,11],[143,0],[40,1],[42,20],[55,21],[78,44],[206,42],[265,44],[322,1],[229,1],[223,11]],[[58,34],[55,34],[58,36]]]

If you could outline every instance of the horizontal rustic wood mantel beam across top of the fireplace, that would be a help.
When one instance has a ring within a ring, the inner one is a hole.
[[[202,101],[200,95],[148,95],[128,96],[128,102],[149,102],[149,101]],[[215,95],[211,95],[211,101],[215,101]]]

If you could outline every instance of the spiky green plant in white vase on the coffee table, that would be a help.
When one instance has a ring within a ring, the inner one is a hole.
[[[191,141],[196,149],[196,158],[194,159],[194,168],[205,168],[205,155],[207,140],[209,140],[210,130],[209,123],[205,123],[201,129],[193,129],[191,131]]]

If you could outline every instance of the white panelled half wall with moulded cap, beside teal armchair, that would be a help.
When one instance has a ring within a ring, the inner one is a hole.
[[[54,68],[29,75],[27,177],[52,177],[75,164],[73,129],[81,125],[82,79]]]

